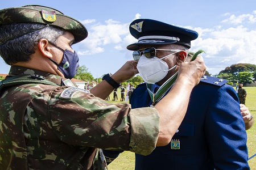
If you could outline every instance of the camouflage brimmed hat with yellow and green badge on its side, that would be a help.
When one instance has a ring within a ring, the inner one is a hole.
[[[26,5],[0,10],[0,27],[2,24],[13,23],[38,23],[65,29],[75,37],[74,44],[88,36],[85,26],[78,20],[46,6]],[[4,43],[0,41],[0,44]]]

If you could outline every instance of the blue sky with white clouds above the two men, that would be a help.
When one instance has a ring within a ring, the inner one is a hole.
[[[129,33],[129,24],[138,18],[160,20],[194,29],[199,37],[192,41],[191,51],[202,54],[210,74],[218,74],[235,63],[256,64],[256,1],[28,1],[0,0],[0,8],[43,5],[56,8],[76,18],[89,35],[75,44],[80,66],[85,65],[94,78],[114,73],[132,52],[126,46],[137,41]],[[0,59],[0,73],[9,65]]]

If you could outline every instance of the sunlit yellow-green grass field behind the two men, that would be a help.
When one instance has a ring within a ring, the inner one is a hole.
[[[256,117],[256,87],[243,87],[247,91],[246,106],[249,108],[250,113]],[[110,95],[112,100],[113,94]],[[118,99],[120,99],[120,91],[118,91]],[[256,123],[255,123],[256,124]],[[256,154],[256,125],[253,125],[247,130],[247,147],[249,158]],[[256,156],[248,161],[251,170],[256,170]],[[127,169],[133,170],[135,164],[135,157],[133,152],[125,151],[109,165],[109,170]]]

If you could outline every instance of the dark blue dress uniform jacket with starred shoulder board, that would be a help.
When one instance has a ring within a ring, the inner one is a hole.
[[[204,76],[192,91],[188,111],[172,141],[150,155],[136,154],[135,169],[250,169],[239,100],[226,82]],[[151,103],[146,84],[137,86],[131,107]]]

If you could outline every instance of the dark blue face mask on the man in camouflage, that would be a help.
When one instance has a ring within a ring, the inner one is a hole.
[[[49,43],[52,44],[51,42]],[[54,46],[64,52],[63,59],[59,64],[53,61],[51,58],[49,59],[51,59],[51,61],[58,66],[58,70],[60,70],[65,78],[72,79],[75,76],[77,69],[79,68],[79,56],[76,52],[73,53],[67,49],[63,50],[57,45]]]

